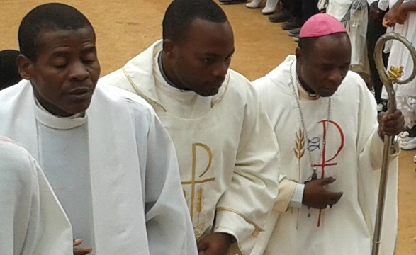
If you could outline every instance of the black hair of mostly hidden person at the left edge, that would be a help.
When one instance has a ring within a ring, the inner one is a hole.
[[[18,72],[17,56],[18,50],[0,51],[0,90],[17,84],[22,77]]]

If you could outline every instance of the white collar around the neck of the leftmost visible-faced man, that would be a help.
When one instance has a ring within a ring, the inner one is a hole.
[[[43,125],[49,128],[55,128],[60,130],[76,128],[80,125],[84,125],[87,120],[86,113],[77,113],[69,117],[60,117],[53,115],[40,105],[38,99],[35,98],[35,116]]]

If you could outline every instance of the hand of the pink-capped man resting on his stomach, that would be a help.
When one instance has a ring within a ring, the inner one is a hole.
[[[343,192],[327,191],[326,185],[333,183],[336,179],[328,177],[324,179],[316,179],[305,184],[303,191],[303,205],[310,208],[325,209],[328,205],[335,205]]]

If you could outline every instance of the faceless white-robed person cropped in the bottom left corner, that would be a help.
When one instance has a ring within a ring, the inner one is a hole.
[[[1,255],[71,255],[67,216],[35,159],[0,137]]]

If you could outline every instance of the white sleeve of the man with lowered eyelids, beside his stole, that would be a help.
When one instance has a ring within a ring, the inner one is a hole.
[[[145,181],[150,254],[198,254],[173,142],[150,111]]]

